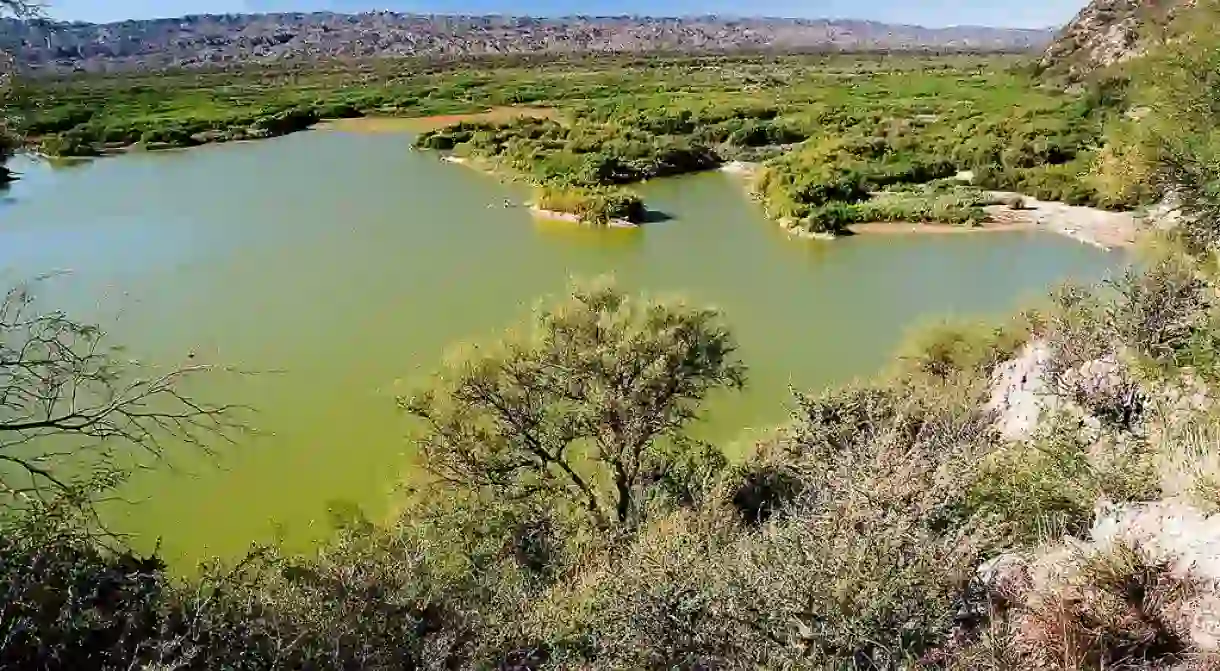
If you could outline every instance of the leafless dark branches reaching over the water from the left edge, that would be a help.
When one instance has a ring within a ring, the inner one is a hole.
[[[235,405],[201,403],[184,383],[214,370],[146,373],[95,326],[40,311],[28,285],[0,300],[0,493],[66,494],[121,460],[171,445],[210,450],[242,429]],[[4,467],[7,466],[7,467]]]

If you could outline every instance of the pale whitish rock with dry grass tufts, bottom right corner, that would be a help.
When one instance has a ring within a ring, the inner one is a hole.
[[[1159,639],[1220,651],[1220,516],[1188,505],[1103,504],[1088,539],[1004,554],[977,576],[1021,667],[1063,669],[1038,662],[1075,650],[1142,653],[1138,669],[1214,669],[1183,664],[1150,644]]]

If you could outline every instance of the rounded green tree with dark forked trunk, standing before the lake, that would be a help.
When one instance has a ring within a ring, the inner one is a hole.
[[[440,479],[514,499],[558,494],[599,526],[631,526],[699,404],[744,375],[715,310],[600,283],[473,346],[400,404],[423,421],[423,464]]]

